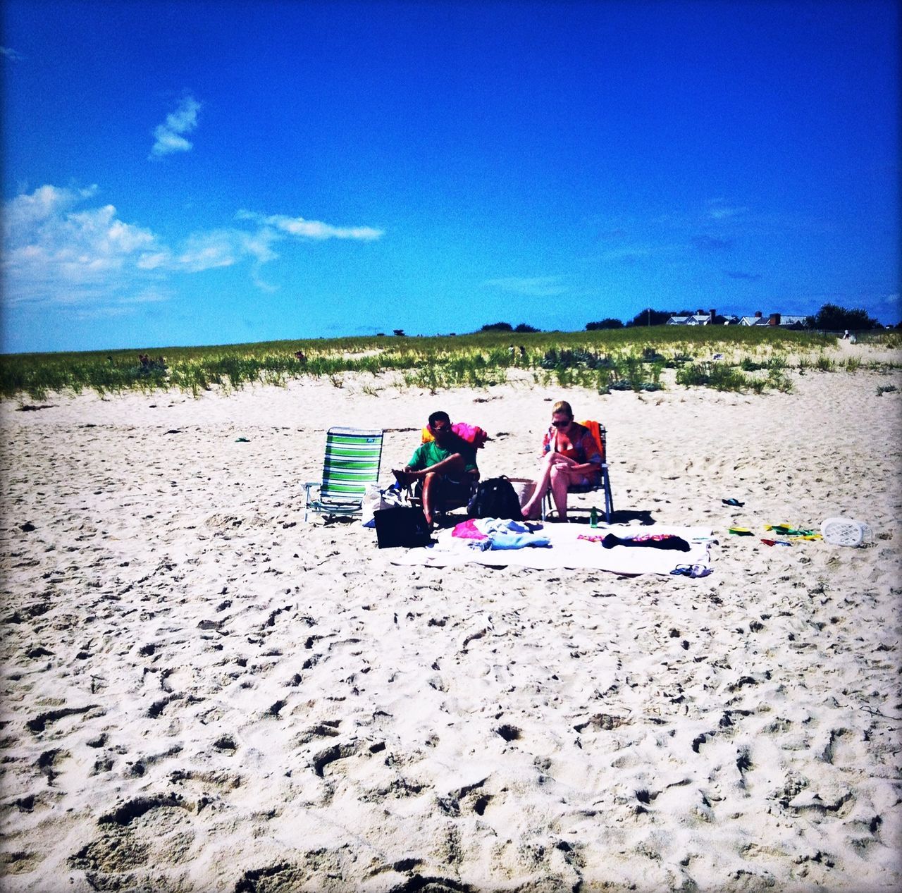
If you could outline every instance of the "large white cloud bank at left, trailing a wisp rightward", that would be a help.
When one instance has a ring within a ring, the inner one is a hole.
[[[97,187],[41,186],[13,198],[3,215],[5,301],[129,307],[167,299],[171,277],[245,263],[264,291],[262,266],[275,247],[308,239],[380,238],[370,226],[331,226],[303,217],[239,212],[239,224],[191,233],[170,246],[151,229],[121,220],[113,205],[84,207]],[[250,224],[243,228],[240,222]],[[300,226],[304,224],[307,226]],[[119,312],[119,311],[117,311]]]

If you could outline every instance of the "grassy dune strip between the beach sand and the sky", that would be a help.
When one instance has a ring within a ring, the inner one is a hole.
[[[871,340],[885,348],[899,346],[895,333]],[[512,353],[511,345],[515,345]],[[580,385],[602,393],[654,391],[668,383],[730,391],[786,391],[791,387],[790,370],[854,371],[861,366],[862,360],[855,357],[838,359],[835,347],[834,336],[814,332],[658,326],[5,354],[0,356],[0,399],[44,400],[51,393],[91,389],[104,394],[173,388],[197,396],[214,388],[241,388],[249,382],[284,384],[303,376],[325,376],[340,387],[345,373],[370,373],[373,392],[388,385],[437,391],[504,382],[512,367],[535,382]],[[298,352],[305,358],[299,359]],[[143,365],[139,354],[162,357],[164,364]]]

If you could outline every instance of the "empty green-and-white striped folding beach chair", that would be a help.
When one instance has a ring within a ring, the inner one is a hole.
[[[379,480],[382,430],[329,428],[321,483],[305,483],[304,520],[311,511],[334,517],[359,515],[364,493]]]

